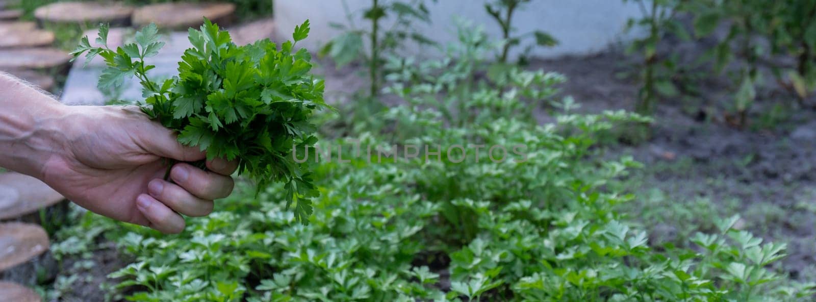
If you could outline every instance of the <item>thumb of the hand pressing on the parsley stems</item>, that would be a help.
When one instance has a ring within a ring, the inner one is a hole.
[[[176,140],[175,132],[159,124],[147,122],[136,129],[138,144],[149,153],[180,162],[195,162],[206,158],[198,147],[184,146]]]

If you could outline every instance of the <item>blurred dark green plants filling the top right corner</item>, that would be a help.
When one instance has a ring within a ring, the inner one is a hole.
[[[629,0],[624,0],[624,2]],[[748,112],[763,87],[761,67],[769,67],[776,82],[794,92],[800,104],[816,89],[816,2],[814,0],[752,1],[752,0],[658,0],[647,8],[647,1],[633,0],[641,5],[644,18],[630,24],[647,29],[649,35],[632,43],[632,50],[644,55],[643,86],[636,111],[650,113],[661,97],[681,93],[694,95],[694,89],[682,81],[688,67],[703,67],[720,74],[728,72],[733,95],[730,113],[725,119],[738,127],[749,124]],[[684,12],[693,17],[693,35],[674,16]],[[717,33],[717,29],[725,32]],[[666,33],[681,40],[714,39],[716,44],[694,62],[676,60],[679,54],[660,54],[657,46]],[[784,57],[796,62],[784,63]],[[701,64],[702,63],[702,64]],[[736,67],[734,69],[733,67]],[[678,82],[682,86],[678,86]],[[812,104],[805,104],[812,106]],[[761,121],[763,122],[763,121]]]

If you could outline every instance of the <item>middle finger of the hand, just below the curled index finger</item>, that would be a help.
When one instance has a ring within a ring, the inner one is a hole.
[[[179,163],[170,171],[171,179],[197,198],[214,200],[233,193],[235,182],[232,177],[203,171],[187,163]]]

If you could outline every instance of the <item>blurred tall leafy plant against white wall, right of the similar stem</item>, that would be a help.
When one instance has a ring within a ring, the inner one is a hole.
[[[502,29],[504,45],[499,55],[499,62],[507,63],[510,48],[520,45],[521,39],[526,36],[532,35],[535,38],[535,44],[539,47],[554,47],[558,45],[556,38],[553,38],[551,34],[542,30],[535,30],[520,36],[512,36],[512,32],[515,30],[512,27],[512,17],[514,13],[531,1],[532,0],[494,0],[493,2],[485,3],[487,14],[493,17],[493,20],[495,20]],[[525,54],[529,53],[531,49],[532,46],[526,47],[526,50],[519,56],[520,63],[526,62]]]

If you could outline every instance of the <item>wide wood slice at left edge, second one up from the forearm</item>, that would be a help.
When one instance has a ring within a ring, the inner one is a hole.
[[[0,70],[59,68],[69,60],[68,53],[54,48],[0,49]]]

